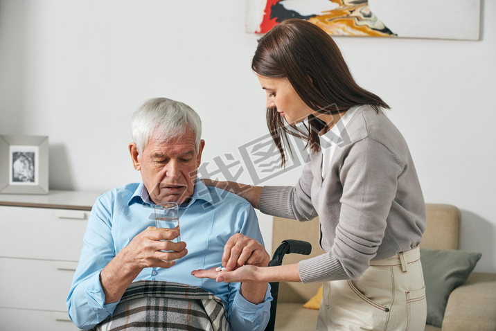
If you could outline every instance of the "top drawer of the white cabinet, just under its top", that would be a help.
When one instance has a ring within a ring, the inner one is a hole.
[[[0,206],[0,256],[78,261],[89,211]]]

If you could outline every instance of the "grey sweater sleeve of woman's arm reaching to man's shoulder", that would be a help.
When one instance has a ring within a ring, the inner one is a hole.
[[[305,164],[296,186],[264,186],[258,206],[267,215],[306,221],[317,216],[312,204],[312,161]]]

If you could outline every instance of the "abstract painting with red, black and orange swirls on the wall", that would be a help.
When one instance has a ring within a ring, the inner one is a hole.
[[[480,0],[247,0],[247,32],[305,19],[330,35],[479,39]]]

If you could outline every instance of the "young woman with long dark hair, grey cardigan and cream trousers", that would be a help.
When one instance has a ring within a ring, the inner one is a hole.
[[[207,182],[269,215],[319,216],[325,253],[295,265],[241,267],[247,249],[228,242],[227,271],[193,274],[224,282],[324,282],[317,330],[424,330],[418,244],[425,203],[407,143],[382,111],[389,106],[357,85],[333,39],[307,21],[288,19],[260,38],[252,68],[267,93],[267,125],[282,163],[287,134],[308,141],[311,159],[296,186],[241,190]],[[303,121],[306,129],[296,126]]]

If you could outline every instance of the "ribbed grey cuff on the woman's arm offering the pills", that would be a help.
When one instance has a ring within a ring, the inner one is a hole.
[[[350,279],[341,262],[330,253],[300,261],[298,263],[298,274],[302,283]]]

